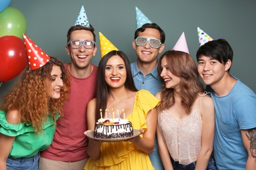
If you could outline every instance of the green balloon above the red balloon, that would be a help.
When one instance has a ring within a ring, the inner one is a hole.
[[[7,7],[0,13],[0,37],[14,35],[23,39],[22,33],[26,33],[26,30],[27,21],[20,10]]]

